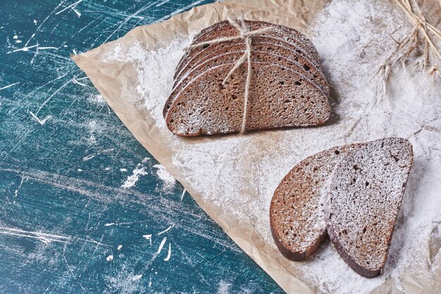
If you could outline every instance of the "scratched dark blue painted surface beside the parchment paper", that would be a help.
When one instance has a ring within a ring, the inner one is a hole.
[[[0,293],[282,293],[69,57],[206,2],[0,1]]]

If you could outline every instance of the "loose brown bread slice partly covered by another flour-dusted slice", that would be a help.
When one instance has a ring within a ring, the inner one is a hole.
[[[287,173],[270,206],[271,233],[282,255],[294,261],[311,257],[326,238],[323,203],[328,178],[356,145],[333,147],[307,157]]]

